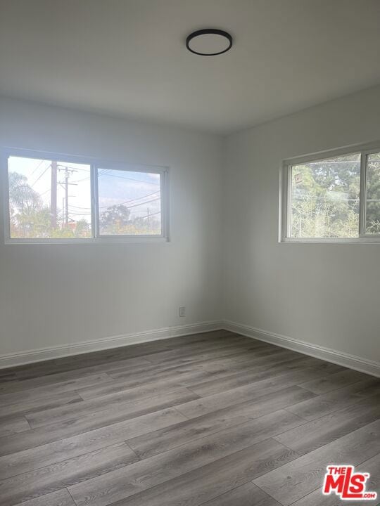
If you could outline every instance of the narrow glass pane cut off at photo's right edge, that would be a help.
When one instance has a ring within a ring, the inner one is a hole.
[[[380,234],[380,153],[367,156],[365,233]]]

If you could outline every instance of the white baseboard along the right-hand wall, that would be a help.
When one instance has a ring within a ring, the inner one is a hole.
[[[259,339],[260,341],[276,344],[282,348],[298,351],[298,353],[303,353],[304,355],[310,355],[327,362],[343,365],[343,367],[346,368],[355,369],[372,376],[380,377],[380,363],[370,361],[367,358],[350,355],[349,353],[343,353],[342,351],[326,348],[325,346],[318,346],[317,344],[298,341],[298,339],[274,334],[274,332],[267,332],[266,330],[255,327],[248,327],[248,325],[242,325],[232,321],[224,321],[223,328],[246,337],[252,337],[253,339]]]

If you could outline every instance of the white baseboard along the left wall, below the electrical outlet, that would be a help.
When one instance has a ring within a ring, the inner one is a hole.
[[[51,358],[80,355],[81,353],[89,353],[89,351],[100,351],[103,349],[120,348],[120,346],[128,346],[129,344],[157,341],[158,339],[167,339],[168,337],[212,332],[213,330],[221,330],[222,328],[222,322],[215,320],[192,323],[189,325],[177,325],[175,327],[165,327],[157,330],[147,330],[145,332],[133,332],[131,334],[106,337],[94,341],[63,344],[63,346],[50,346],[49,348],[8,353],[7,355],[0,356],[0,369],[13,367],[14,365],[42,362],[51,360]]]

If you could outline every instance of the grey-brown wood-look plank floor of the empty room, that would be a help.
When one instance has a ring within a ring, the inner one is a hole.
[[[335,506],[329,463],[379,486],[380,380],[227,331],[1,370],[0,406],[1,506]]]

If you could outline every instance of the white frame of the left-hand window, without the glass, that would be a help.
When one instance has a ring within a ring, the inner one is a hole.
[[[8,188],[8,157],[35,158],[37,160],[49,160],[56,162],[68,162],[87,164],[90,166],[91,182],[91,238],[11,238],[11,219],[9,209]],[[99,234],[99,193],[98,193],[98,170],[115,169],[129,172],[148,172],[160,174],[160,197],[161,197],[161,234],[160,235],[100,235]],[[18,148],[6,148],[1,153],[0,184],[3,188],[2,200],[4,223],[4,243],[14,244],[138,244],[170,242],[170,216],[169,216],[169,167],[156,165],[134,164],[131,162],[113,162],[110,160],[65,155],[62,153],[49,153]]]

